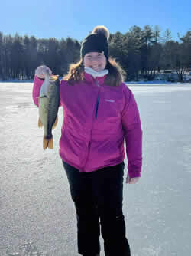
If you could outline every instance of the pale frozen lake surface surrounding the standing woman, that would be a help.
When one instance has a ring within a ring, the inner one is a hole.
[[[141,180],[124,186],[132,256],[189,256],[191,84],[129,87],[144,135]],[[63,113],[54,149],[44,151],[31,91],[31,83],[0,83],[0,255],[77,256],[76,215],[58,154]]]

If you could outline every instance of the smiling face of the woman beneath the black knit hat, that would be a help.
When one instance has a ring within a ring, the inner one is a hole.
[[[106,57],[101,52],[89,52],[83,59],[84,67],[91,67],[94,71],[102,71],[106,66]]]

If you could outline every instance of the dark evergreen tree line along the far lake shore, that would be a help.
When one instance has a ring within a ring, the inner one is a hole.
[[[126,80],[153,80],[157,72],[171,70],[182,81],[191,69],[191,30],[179,39],[173,41],[170,30],[162,32],[158,25],[133,26],[125,34],[110,34],[109,55],[121,64]],[[40,64],[63,76],[79,61],[79,52],[80,42],[70,37],[37,39],[0,32],[0,79],[33,79]]]

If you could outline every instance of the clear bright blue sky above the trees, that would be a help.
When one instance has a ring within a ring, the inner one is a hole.
[[[159,25],[177,40],[178,32],[183,36],[191,29],[190,0],[2,0],[0,6],[0,31],[11,35],[80,41],[95,25],[105,25],[111,33],[125,33],[133,25]]]

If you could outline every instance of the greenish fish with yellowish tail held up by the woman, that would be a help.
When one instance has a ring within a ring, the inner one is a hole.
[[[45,74],[40,88],[38,127],[44,127],[43,149],[53,149],[52,130],[58,123],[60,80],[58,75]]]

